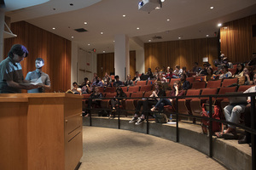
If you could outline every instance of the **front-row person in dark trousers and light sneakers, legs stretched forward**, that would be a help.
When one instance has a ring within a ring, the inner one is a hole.
[[[159,82],[159,81],[154,82],[154,88],[155,88],[154,91],[149,96],[150,98],[166,96],[166,92],[162,88],[161,82]],[[150,108],[151,105],[156,105],[158,100],[159,99],[148,99],[148,101],[147,101],[147,99],[138,100],[135,114],[129,123],[135,122],[136,125],[143,123],[145,121],[145,115],[144,115],[145,108],[147,108],[147,107]],[[143,113],[140,117],[138,117],[138,114],[139,114],[142,106],[143,106]]]

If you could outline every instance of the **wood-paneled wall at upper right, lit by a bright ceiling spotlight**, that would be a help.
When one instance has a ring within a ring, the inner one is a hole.
[[[232,62],[245,62],[256,53],[256,37],[252,26],[256,25],[256,14],[224,23],[220,29],[221,53]]]

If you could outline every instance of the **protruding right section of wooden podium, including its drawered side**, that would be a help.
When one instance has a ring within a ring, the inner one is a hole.
[[[15,96],[25,96],[28,100],[27,169],[73,170],[83,155],[82,96],[74,94],[15,94]]]

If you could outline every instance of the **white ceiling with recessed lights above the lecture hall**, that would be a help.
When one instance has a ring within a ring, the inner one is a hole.
[[[138,10],[138,2],[50,0],[34,7],[7,10],[6,15],[11,17],[12,22],[26,20],[79,43],[84,50],[96,48],[96,53],[101,54],[102,51],[113,52],[114,35],[125,34],[139,42],[148,42],[149,39],[151,42],[172,41],[178,40],[178,37],[181,40],[203,38],[207,34],[214,37],[214,32],[218,32],[218,23],[256,14],[255,0],[166,0],[160,10],[150,14]],[[210,9],[212,6],[214,8]],[[126,16],[123,17],[123,14]],[[85,21],[87,25],[84,25]],[[137,30],[137,27],[140,29]],[[77,28],[84,28],[87,32],[73,30]],[[162,39],[153,39],[155,36]],[[130,48],[137,49],[139,46],[131,41]]]

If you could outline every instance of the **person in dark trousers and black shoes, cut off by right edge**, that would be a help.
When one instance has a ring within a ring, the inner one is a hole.
[[[253,86],[252,88],[248,88],[244,93],[255,93],[256,92],[256,73],[253,77]],[[251,127],[251,97],[248,96],[247,98],[247,106],[244,112],[244,124],[246,127]],[[254,120],[254,123],[256,121]],[[250,144],[251,143],[251,133],[245,131],[245,135],[238,141],[238,144]]]

